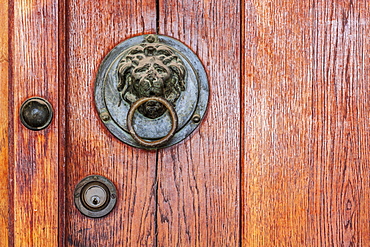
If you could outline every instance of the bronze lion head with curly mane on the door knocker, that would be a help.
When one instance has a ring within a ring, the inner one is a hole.
[[[143,43],[129,50],[118,65],[117,90],[132,104],[142,97],[162,97],[175,105],[185,90],[185,66],[166,45]],[[148,101],[138,109],[148,118],[158,118],[166,108]]]

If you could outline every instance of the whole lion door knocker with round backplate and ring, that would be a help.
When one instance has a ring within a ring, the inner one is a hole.
[[[134,147],[174,145],[199,125],[208,82],[197,56],[161,35],[128,39],[105,57],[95,82],[100,118],[118,139]]]

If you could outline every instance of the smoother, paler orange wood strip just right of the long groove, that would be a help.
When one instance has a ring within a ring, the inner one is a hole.
[[[244,6],[243,245],[305,246],[310,3]]]

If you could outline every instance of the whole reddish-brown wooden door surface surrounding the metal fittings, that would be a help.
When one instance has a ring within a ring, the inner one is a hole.
[[[368,1],[0,3],[3,246],[370,245]],[[204,122],[158,151],[113,137],[93,96],[104,56],[148,33],[210,83]],[[31,96],[44,130],[19,120]],[[118,190],[99,219],[73,204],[91,174]]]

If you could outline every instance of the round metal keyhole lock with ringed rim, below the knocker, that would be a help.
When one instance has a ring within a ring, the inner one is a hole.
[[[100,218],[109,214],[116,205],[117,190],[108,178],[90,175],[76,185],[74,201],[85,216]]]

